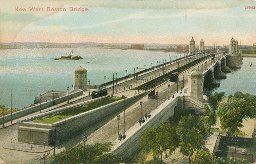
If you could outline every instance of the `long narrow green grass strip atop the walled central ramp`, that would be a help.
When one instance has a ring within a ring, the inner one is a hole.
[[[78,106],[78,107],[75,107],[75,108],[72,108],[72,109],[68,109],[68,110],[62,111],[60,113],[45,116],[43,118],[31,121],[31,122],[52,124],[54,122],[64,120],[68,117],[75,116],[79,113],[84,113],[84,112],[90,111],[92,109],[98,108],[100,106],[113,103],[113,102],[115,102],[117,100],[120,100],[120,99],[122,99],[122,98],[109,98],[109,97],[102,98],[102,99],[99,99],[97,101],[93,101],[93,102],[87,103],[87,104],[82,105],[82,106]]]

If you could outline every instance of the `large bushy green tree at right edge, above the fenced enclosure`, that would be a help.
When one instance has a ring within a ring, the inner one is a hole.
[[[256,97],[250,94],[236,92],[234,96],[229,96],[227,102],[223,102],[217,114],[220,118],[221,128],[227,129],[234,135],[238,128],[243,127],[243,119],[252,118],[256,113]]]

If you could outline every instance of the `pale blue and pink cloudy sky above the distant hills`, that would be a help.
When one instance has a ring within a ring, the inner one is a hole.
[[[43,11],[30,11],[34,7]],[[234,37],[252,45],[255,7],[256,0],[2,0],[0,43],[188,44],[193,37],[196,44],[203,38],[205,45],[228,45]]]

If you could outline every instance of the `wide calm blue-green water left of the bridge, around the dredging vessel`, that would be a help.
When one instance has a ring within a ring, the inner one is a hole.
[[[74,79],[74,70],[79,66],[87,69],[87,81],[90,85],[104,83],[104,76],[117,78],[157,65],[157,61],[173,60],[177,53],[165,53],[120,49],[74,49],[74,55],[80,54],[82,60],[54,60],[66,55],[72,49],[7,49],[0,50],[0,105],[10,107],[12,89],[12,107],[23,108],[34,103],[35,96],[49,90],[67,91]],[[85,63],[90,62],[90,63]],[[256,64],[256,63],[255,63]],[[135,70],[136,71],[136,70]],[[116,75],[115,75],[116,77]],[[106,82],[112,79],[106,79]]]

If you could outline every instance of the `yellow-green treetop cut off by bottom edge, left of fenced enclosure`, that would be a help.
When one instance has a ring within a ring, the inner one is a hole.
[[[215,163],[214,156],[207,150],[198,150],[195,157],[192,157],[192,163],[196,164],[213,164]]]

